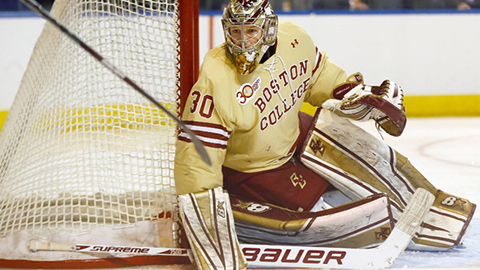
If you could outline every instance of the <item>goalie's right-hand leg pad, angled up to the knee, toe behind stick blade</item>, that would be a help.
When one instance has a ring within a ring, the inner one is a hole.
[[[407,158],[329,110],[318,109],[301,161],[350,200],[386,193],[399,219],[413,193],[424,188],[435,202],[409,248],[444,250],[461,244],[476,205],[435,188]]]

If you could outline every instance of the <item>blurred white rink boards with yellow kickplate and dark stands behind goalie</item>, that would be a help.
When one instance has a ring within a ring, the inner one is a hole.
[[[37,1],[46,9],[53,3]],[[224,42],[227,2],[200,0],[200,62]],[[480,0],[270,2],[280,21],[301,25],[348,74],[362,72],[371,85],[399,83],[408,117],[480,116]],[[19,0],[0,0],[0,129],[44,24]]]

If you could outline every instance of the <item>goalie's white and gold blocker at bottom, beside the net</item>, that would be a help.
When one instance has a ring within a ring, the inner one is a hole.
[[[180,218],[198,269],[246,269],[230,199],[221,187],[179,195]]]

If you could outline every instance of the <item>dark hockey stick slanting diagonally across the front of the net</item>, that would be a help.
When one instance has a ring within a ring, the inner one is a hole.
[[[92,47],[87,45],[85,42],[83,42],[77,35],[75,35],[73,32],[71,32],[66,26],[58,22],[55,18],[53,18],[48,11],[46,11],[37,1],[35,0],[21,0],[22,3],[27,5],[32,11],[35,13],[41,15],[44,19],[49,21],[53,26],[58,28],[60,31],[62,31],[64,34],[66,34],[71,40],[73,40],[75,43],[77,43],[80,47],[82,47],[85,51],[87,51],[91,56],[93,56],[98,62],[100,62],[104,67],[106,67],[109,71],[111,71],[115,76],[126,82],[128,85],[130,85],[133,89],[135,89],[138,93],[143,95],[145,98],[150,100],[155,106],[160,108],[162,111],[164,111],[170,118],[175,120],[177,124],[190,136],[190,139],[192,140],[192,143],[195,146],[195,149],[197,150],[198,154],[202,158],[202,160],[207,163],[208,165],[211,165],[210,157],[205,149],[205,146],[203,143],[198,139],[198,137],[193,133],[192,130],[190,130],[185,123],[180,120],[178,117],[173,115],[167,108],[165,108],[162,104],[160,104],[158,101],[156,101],[151,95],[149,95],[145,90],[143,90],[137,83],[135,83],[132,79],[127,77],[120,69],[118,69],[116,66],[114,66],[110,61],[107,59],[103,58],[97,51],[95,51]]]

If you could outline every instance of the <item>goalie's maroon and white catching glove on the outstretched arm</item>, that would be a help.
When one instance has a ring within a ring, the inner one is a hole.
[[[400,136],[407,123],[403,90],[390,80],[369,86],[362,74],[355,73],[333,90],[333,97],[323,103],[324,109],[357,121],[373,119],[392,136]]]

